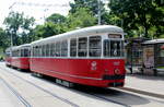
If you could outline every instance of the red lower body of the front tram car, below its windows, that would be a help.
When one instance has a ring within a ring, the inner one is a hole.
[[[120,59],[32,58],[31,70],[92,86],[122,86],[125,83],[125,61]]]

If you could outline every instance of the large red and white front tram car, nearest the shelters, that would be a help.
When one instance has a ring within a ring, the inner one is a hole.
[[[101,25],[33,41],[31,70],[57,82],[109,87],[125,84],[124,31]]]

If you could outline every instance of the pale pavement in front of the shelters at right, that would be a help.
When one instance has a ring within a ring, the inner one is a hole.
[[[124,90],[164,98],[164,72],[154,76],[141,74],[138,70],[132,74],[128,71]]]

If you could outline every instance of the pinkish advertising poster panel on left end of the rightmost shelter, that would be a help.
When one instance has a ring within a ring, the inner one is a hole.
[[[143,72],[153,74],[154,69],[154,46],[148,45],[143,47]]]

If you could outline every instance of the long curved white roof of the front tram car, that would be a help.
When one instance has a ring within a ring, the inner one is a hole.
[[[32,45],[35,44],[46,44],[52,43],[55,40],[60,40],[60,39],[68,39],[71,37],[84,37],[84,36],[95,36],[96,34],[104,34],[104,33],[119,33],[122,34],[124,31],[122,28],[114,25],[97,25],[97,26],[91,26],[91,27],[85,27],[85,28],[80,28],[75,31],[71,31],[68,33],[59,34],[59,35],[54,35],[51,37],[43,38],[36,41],[33,41]]]

